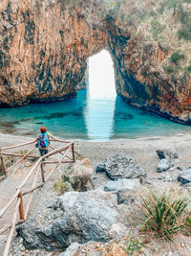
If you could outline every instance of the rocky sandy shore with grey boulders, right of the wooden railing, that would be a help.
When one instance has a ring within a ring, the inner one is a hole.
[[[91,161],[96,190],[60,196],[53,184],[69,168],[61,166],[35,193],[30,218],[17,228],[11,255],[126,255],[131,243],[139,243],[137,249],[146,255],[189,255],[189,237],[175,236],[176,244],[151,238],[139,233],[138,219],[130,216],[137,214],[138,195],[145,188],[173,186],[190,192],[190,136],[75,141],[75,151]],[[0,148],[23,139],[1,133]]]

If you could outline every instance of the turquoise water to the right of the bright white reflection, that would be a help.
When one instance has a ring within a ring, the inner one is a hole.
[[[111,132],[110,139],[172,135],[179,131],[189,129],[189,126],[172,122],[153,112],[128,105],[117,96],[113,118],[113,131]]]

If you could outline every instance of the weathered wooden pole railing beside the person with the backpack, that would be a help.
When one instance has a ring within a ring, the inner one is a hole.
[[[28,151],[27,153],[8,152],[9,150],[12,150],[12,149],[17,149],[17,148],[21,148],[21,147],[24,147],[24,146],[32,145],[32,144],[36,143],[35,140],[33,140],[31,142],[20,144],[20,145],[15,145],[15,146],[0,149],[0,160],[1,160],[1,163],[2,163],[2,169],[3,169],[3,173],[4,173],[3,177],[7,176],[8,173],[10,173],[11,170],[16,165],[21,163],[22,160],[27,159],[27,158],[31,158],[31,157],[36,158],[36,160],[37,160],[35,162],[35,164],[32,166],[32,169],[30,170],[29,174],[26,175],[24,180],[22,180],[20,185],[17,187],[16,192],[13,194],[11,199],[0,210],[0,218],[2,218],[5,215],[5,213],[9,210],[11,205],[15,204],[11,224],[8,224],[7,226],[0,229],[0,235],[1,235],[1,234],[3,234],[4,232],[8,231],[11,228],[10,233],[8,235],[6,246],[5,246],[5,249],[4,249],[3,256],[8,256],[9,255],[11,240],[12,240],[12,236],[14,234],[15,225],[26,221],[27,218],[28,218],[30,205],[32,203],[33,192],[36,189],[42,187],[47,182],[47,180],[51,177],[51,175],[53,175],[53,172],[55,171],[56,168],[59,167],[60,164],[62,164],[62,163],[72,163],[72,162],[75,161],[75,158],[74,158],[74,142],[57,140],[57,139],[52,140],[52,141],[63,143],[65,145],[63,145],[62,147],[60,147],[58,149],[55,149],[52,145],[50,145],[50,148],[53,151],[50,151],[50,152],[48,152],[47,154],[45,154],[41,157],[39,157],[37,155],[32,155],[32,151],[35,150],[34,146],[33,146],[32,150]],[[70,151],[71,151],[72,155],[68,155]],[[55,155],[57,153],[62,155],[60,160],[43,161],[43,158]],[[19,160],[17,160],[9,169],[7,169],[5,159],[4,159],[4,157],[6,155],[8,155],[8,156],[18,156],[18,157],[21,157],[21,158]],[[53,166],[53,169],[51,170],[51,173],[49,173],[49,175],[47,175],[47,176],[45,176],[45,173],[44,173],[44,170],[43,170],[43,164],[44,163],[55,164]],[[35,173],[35,171],[36,171],[36,174],[34,175],[34,178],[32,179],[32,181],[33,181],[32,182],[32,188],[28,191],[24,191],[24,186],[26,185],[27,181],[29,181],[30,177]],[[41,182],[41,184],[36,185],[38,175],[41,175],[42,182]],[[31,196],[28,199],[27,206],[24,209],[23,197],[26,196],[26,195],[29,195],[29,194],[31,194]],[[17,218],[18,214],[19,214],[19,220]]]

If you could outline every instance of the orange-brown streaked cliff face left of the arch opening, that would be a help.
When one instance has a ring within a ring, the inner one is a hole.
[[[87,3],[86,3],[87,2]],[[8,1],[0,6],[0,104],[25,105],[76,95],[86,59],[104,48],[107,34],[83,1]],[[69,4],[68,4],[69,5]]]

